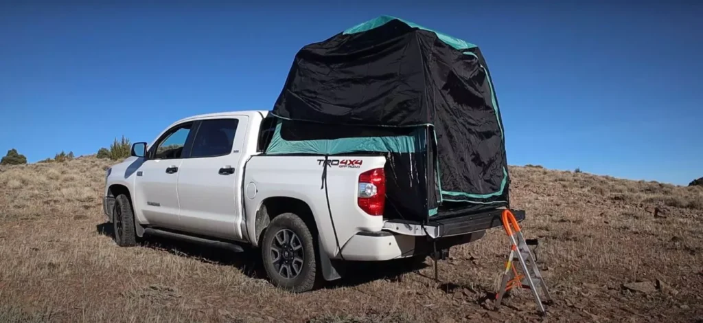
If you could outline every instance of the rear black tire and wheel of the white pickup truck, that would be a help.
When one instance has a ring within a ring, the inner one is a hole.
[[[321,274],[317,270],[315,242],[297,215],[283,213],[273,218],[264,232],[261,251],[264,270],[274,286],[296,293],[318,286]]]

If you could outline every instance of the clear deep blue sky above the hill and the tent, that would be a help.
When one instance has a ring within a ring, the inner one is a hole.
[[[188,115],[269,110],[301,46],[387,14],[481,47],[511,165],[703,176],[695,1],[118,2],[0,4],[1,153],[78,156]]]

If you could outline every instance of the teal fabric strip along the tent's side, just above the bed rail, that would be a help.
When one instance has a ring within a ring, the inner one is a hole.
[[[408,136],[392,137],[353,137],[341,139],[315,139],[315,140],[285,140],[280,137],[282,122],[276,124],[276,129],[271,137],[271,144],[266,149],[267,154],[277,155],[286,153],[311,153],[335,155],[339,153],[353,153],[355,151],[378,151],[392,153],[415,153],[425,151],[427,141],[423,136],[423,129],[418,129]]]

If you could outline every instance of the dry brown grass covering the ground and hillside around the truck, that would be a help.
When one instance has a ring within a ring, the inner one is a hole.
[[[1,322],[538,321],[525,291],[486,310],[508,253],[499,229],[453,248],[439,263],[441,284],[428,260],[402,275],[366,266],[300,295],[257,278],[255,255],[170,241],[119,248],[101,210],[109,163],[0,168]],[[701,322],[702,188],[511,172],[513,206],[527,210],[524,232],[540,240],[538,262],[556,300],[550,321]],[[656,279],[678,293],[622,288]]]

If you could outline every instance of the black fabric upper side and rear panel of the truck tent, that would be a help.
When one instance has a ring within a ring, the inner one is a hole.
[[[474,44],[399,18],[369,20],[298,51],[271,113],[335,129],[426,129],[414,158],[425,158],[426,215],[508,206],[501,113]]]

